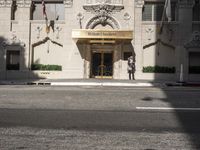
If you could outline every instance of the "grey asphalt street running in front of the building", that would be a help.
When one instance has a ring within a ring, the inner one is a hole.
[[[0,86],[0,149],[199,149],[200,89]]]

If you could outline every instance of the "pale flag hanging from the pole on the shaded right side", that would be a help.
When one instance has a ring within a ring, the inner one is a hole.
[[[161,25],[160,25],[160,31],[159,31],[160,34],[162,33],[165,18],[167,18],[168,22],[170,22],[172,20],[172,17],[171,17],[171,0],[165,0],[165,5],[164,5],[164,9],[163,9],[163,14],[162,14],[162,20],[161,20]]]

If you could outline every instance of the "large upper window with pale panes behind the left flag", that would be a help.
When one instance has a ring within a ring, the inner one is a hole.
[[[48,20],[64,20],[65,7],[63,2],[46,2],[46,13]],[[32,5],[32,19],[33,20],[44,20],[43,7],[41,2],[33,2]]]

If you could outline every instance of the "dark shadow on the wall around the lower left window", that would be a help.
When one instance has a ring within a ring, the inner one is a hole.
[[[0,37],[0,80],[37,79],[36,74],[30,71],[29,56],[26,45],[20,40]]]

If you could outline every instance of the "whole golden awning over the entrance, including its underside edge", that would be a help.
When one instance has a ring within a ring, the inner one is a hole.
[[[72,38],[78,42],[87,43],[117,43],[131,41],[133,39],[132,30],[94,30],[94,29],[74,29]]]

